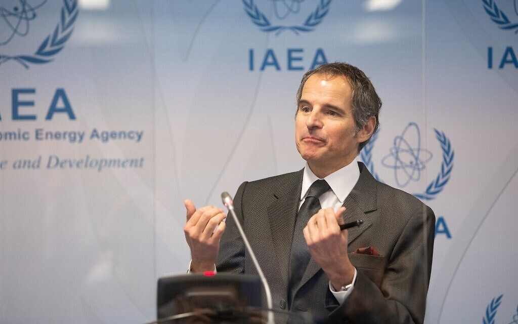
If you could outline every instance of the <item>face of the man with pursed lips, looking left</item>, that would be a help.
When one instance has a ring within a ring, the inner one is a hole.
[[[343,76],[328,79],[314,74],[304,84],[295,117],[295,143],[315,174],[332,173],[357,155],[351,98],[351,86]]]

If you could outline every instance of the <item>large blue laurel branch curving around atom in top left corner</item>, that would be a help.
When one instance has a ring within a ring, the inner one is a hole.
[[[52,61],[54,55],[63,49],[66,41],[74,31],[74,22],[79,12],[77,3],[78,0],[63,0],[60,22],[57,23],[54,32],[41,42],[33,55],[9,56],[0,54],[0,65],[13,60],[28,68],[30,63],[42,64]]]

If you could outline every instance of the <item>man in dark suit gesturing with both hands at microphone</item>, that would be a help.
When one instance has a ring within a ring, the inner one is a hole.
[[[356,161],[379,125],[381,101],[370,80],[349,64],[321,65],[304,75],[297,105],[295,143],[306,167],[244,182],[234,200],[274,306],[315,322],[422,323],[435,216]],[[196,210],[189,200],[185,207],[191,271],[216,264],[257,273],[221,209]],[[356,219],[364,223],[340,231]]]

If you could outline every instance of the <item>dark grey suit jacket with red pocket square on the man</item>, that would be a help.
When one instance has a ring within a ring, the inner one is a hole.
[[[311,259],[290,312],[310,315],[314,322],[422,323],[434,246],[434,213],[414,196],[376,181],[363,163],[358,164],[358,182],[343,204],[346,222],[364,220],[361,227],[349,230],[347,249],[358,272],[354,290],[338,305],[326,274]],[[268,279],[274,307],[279,309],[287,304],[302,179],[303,170],[243,182],[234,199],[244,232]],[[226,224],[218,271],[257,274],[231,217]],[[353,253],[369,246],[382,256]]]

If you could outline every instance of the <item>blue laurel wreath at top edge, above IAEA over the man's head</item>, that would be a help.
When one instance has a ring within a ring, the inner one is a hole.
[[[310,32],[314,29],[314,27],[322,22],[324,17],[329,12],[329,6],[331,4],[331,0],[320,0],[319,5],[316,9],[310,13],[306,21],[303,25],[297,26],[282,26],[282,25],[272,25],[268,18],[257,8],[254,3],[254,0],[242,0],[244,4],[244,9],[247,12],[248,17],[252,19],[252,22],[260,27],[260,29],[264,32],[276,32],[275,35],[279,35],[285,30],[291,30],[296,35],[299,32]]]

